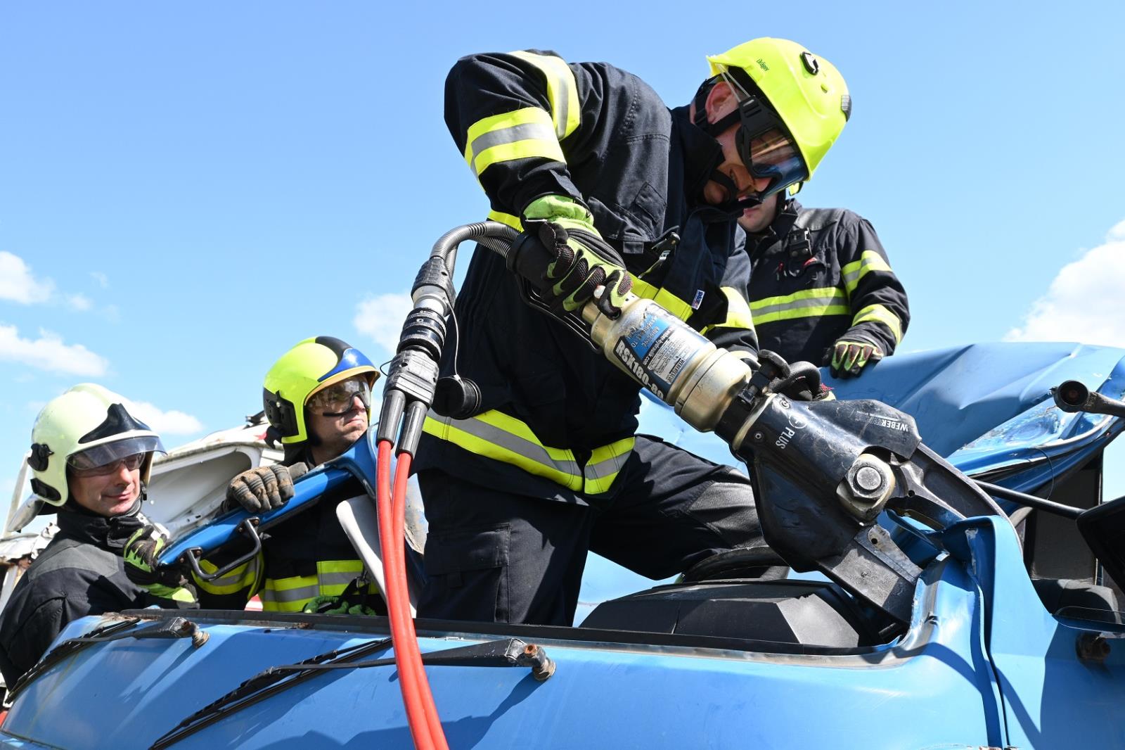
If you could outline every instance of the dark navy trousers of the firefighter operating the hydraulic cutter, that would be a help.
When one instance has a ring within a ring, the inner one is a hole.
[[[750,481],[637,436],[610,498],[572,505],[418,473],[430,525],[418,616],[570,625],[587,551],[654,580],[764,544]]]

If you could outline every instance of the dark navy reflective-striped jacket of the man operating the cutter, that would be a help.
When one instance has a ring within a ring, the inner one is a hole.
[[[449,73],[446,123],[488,196],[489,218],[520,229],[536,198],[580,200],[622,252],[634,293],[720,347],[756,352],[745,233],[701,200],[721,150],[686,107],[669,110],[639,78],[605,63],[479,54]],[[662,261],[654,248],[672,229],[681,242]],[[457,372],[479,385],[483,408],[464,420],[431,411],[415,467],[456,467],[485,486],[564,502],[608,492],[632,449],[638,385],[526,305],[503,259],[484,248],[456,314]],[[453,373],[453,351],[447,343],[443,375]]]

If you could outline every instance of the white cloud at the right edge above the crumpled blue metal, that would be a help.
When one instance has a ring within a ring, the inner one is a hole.
[[[1125,347],[1125,221],[1106,242],[1062,267],[1006,341],[1080,341]]]

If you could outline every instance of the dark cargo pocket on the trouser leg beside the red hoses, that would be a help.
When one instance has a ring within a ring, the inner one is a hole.
[[[432,602],[450,619],[508,622],[507,524],[434,534],[425,545],[425,572],[441,601]],[[442,616],[442,615],[438,615]]]

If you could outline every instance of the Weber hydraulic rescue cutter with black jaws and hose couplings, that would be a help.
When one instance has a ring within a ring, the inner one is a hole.
[[[504,255],[522,279],[525,300],[552,312],[537,288],[552,258],[529,234],[485,222],[441,238],[415,282],[415,307],[387,380],[380,437],[393,436],[400,404],[411,404],[399,450],[413,452],[439,387],[436,363],[453,306],[450,274],[457,244],[467,239]],[[922,445],[908,414],[878,401],[812,400],[820,377],[808,363],[790,366],[762,352],[755,368],[757,363],[717,348],[656,302],[634,295],[615,316],[596,301],[579,312],[562,319],[687,423],[713,430],[753,467],[766,543],[788,565],[825,573],[899,624],[909,620],[920,570],[876,525],[880,514],[893,511],[933,528],[970,516],[1004,517],[972,480]],[[453,400],[453,411],[465,417],[472,413],[475,390],[458,380],[466,398]]]

